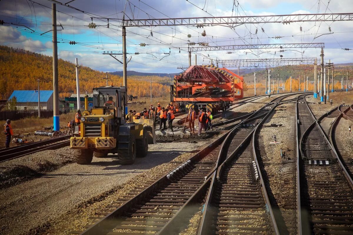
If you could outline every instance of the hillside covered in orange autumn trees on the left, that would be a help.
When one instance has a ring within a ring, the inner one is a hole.
[[[7,99],[14,90],[37,89],[37,79],[40,79],[40,89],[53,89],[53,59],[51,56],[26,51],[20,48],[0,46],[0,99]],[[76,93],[75,64],[62,59],[58,60],[59,95],[68,97]],[[106,85],[103,72],[93,70],[86,66],[79,69],[80,91],[92,91],[94,87]],[[122,77],[111,75],[109,84],[119,86]],[[169,91],[167,79],[159,76],[132,76],[128,79],[128,94],[138,97],[150,95],[150,81],[152,81],[152,94],[164,94]]]

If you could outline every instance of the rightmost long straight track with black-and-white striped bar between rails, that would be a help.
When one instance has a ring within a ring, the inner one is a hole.
[[[353,181],[306,102],[297,119],[298,233],[352,234]]]

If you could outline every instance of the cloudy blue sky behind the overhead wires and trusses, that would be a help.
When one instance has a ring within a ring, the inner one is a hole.
[[[65,1],[62,1],[63,3]],[[329,4],[328,4],[329,2]],[[353,12],[353,0],[337,1],[305,1],[292,0],[75,0],[69,5],[79,10],[57,4],[58,24],[64,29],[58,31],[59,57],[79,63],[101,71],[121,71],[121,64],[109,55],[102,55],[103,51],[121,53],[122,37],[118,21],[111,20],[109,28],[107,22],[93,19],[97,26],[89,29],[91,16],[122,18],[125,5],[125,18],[168,18],[168,17],[210,17],[210,16],[254,16],[267,14],[295,14],[295,13],[348,13]],[[49,0],[2,0],[0,1],[0,15],[6,23],[0,26],[0,44],[52,55],[51,4]],[[233,10],[233,11],[232,11]],[[12,24],[11,24],[12,23]],[[17,25],[14,25],[17,24]],[[27,26],[30,29],[24,27]],[[299,30],[302,27],[303,31]],[[316,39],[315,36],[329,32]],[[261,28],[265,32],[262,32]],[[255,34],[255,30],[258,33]],[[201,36],[203,30],[207,36]],[[33,32],[35,31],[35,32]],[[325,60],[334,63],[352,62],[353,22],[303,22],[282,24],[246,24],[237,26],[234,30],[224,26],[206,26],[203,29],[195,26],[177,27],[128,27],[127,52],[132,60],[128,63],[128,70],[151,73],[177,73],[177,67],[188,65],[187,51],[180,47],[187,47],[188,37],[191,42],[204,42],[209,45],[242,45],[268,43],[325,43]],[[151,35],[153,34],[153,36]],[[283,36],[281,39],[272,37]],[[70,45],[69,41],[78,42]],[[146,43],[140,47],[140,43]],[[283,57],[318,57],[320,49],[303,49],[302,51],[285,51]],[[300,52],[301,51],[301,52]],[[135,55],[138,52],[138,55]],[[232,52],[232,54],[227,54]],[[276,52],[276,53],[275,53]],[[244,58],[278,58],[278,49],[237,50],[237,51],[208,51],[198,53],[198,64],[209,63],[210,59],[244,59]],[[129,55],[130,56],[130,55]],[[128,57],[129,57],[128,56]],[[195,61],[195,55],[192,56]],[[121,56],[116,58],[121,60]]]

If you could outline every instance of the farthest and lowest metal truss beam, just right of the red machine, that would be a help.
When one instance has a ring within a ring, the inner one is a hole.
[[[314,64],[315,58],[275,58],[275,59],[244,59],[244,60],[218,60],[217,64],[223,67],[276,67],[301,64]]]

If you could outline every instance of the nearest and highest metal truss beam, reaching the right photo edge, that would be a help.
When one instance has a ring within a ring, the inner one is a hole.
[[[111,18],[113,19],[113,18]],[[288,14],[269,16],[233,16],[233,17],[193,17],[193,18],[163,18],[163,19],[113,19],[122,21],[125,27],[142,26],[179,26],[179,25],[240,25],[240,24],[263,24],[307,21],[346,21],[353,20],[353,13],[325,13],[325,14]]]

